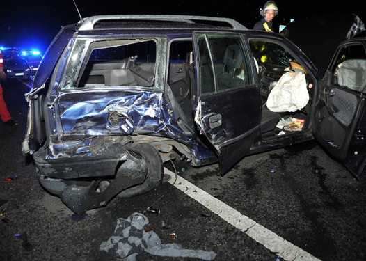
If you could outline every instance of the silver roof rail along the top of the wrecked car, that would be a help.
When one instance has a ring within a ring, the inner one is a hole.
[[[194,24],[196,21],[206,22],[223,22],[230,24],[234,30],[247,30],[246,26],[240,24],[231,18],[224,17],[207,17],[199,15],[95,15],[84,18],[80,23],[79,31],[93,30],[97,22],[108,20],[150,20],[150,21],[166,21],[166,22],[186,22]]]

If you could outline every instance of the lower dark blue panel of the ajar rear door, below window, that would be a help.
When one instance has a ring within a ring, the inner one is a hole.
[[[218,153],[225,173],[248,153],[259,131],[260,92],[257,87],[200,97],[202,134]]]

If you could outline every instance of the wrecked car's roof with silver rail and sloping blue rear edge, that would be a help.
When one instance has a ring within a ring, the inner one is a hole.
[[[76,24],[63,26],[47,49],[42,65],[33,81],[33,89],[40,88],[49,78],[58,57],[69,42],[70,38],[88,35],[114,34],[137,35],[138,32],[149,35],[166,34],[180,30],[191,33],[193,30],[209,29],[217,31],[248,31],[246,26],[234,19],[222,17],[205,17],[189,15],[96,15],[81,19]],[[154,32],[152,33],[152,30]],[[77,34],[75,34],[77,33]]]

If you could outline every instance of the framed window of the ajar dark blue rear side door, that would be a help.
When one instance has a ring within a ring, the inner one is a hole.
[[[198,35],[200,93],[207,95],[253,84],[240,35]]]

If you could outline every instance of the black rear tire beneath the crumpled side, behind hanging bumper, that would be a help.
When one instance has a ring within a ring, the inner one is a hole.
[[[129,198],[137,196],[151,189],[156,188],[164,177],[163,161],[158,150],[148,143],[138,143],[131,148],[132,152],[138,153],[148,164],[148,173],[143,184],[125,189],[118,193],[119,198]]]

